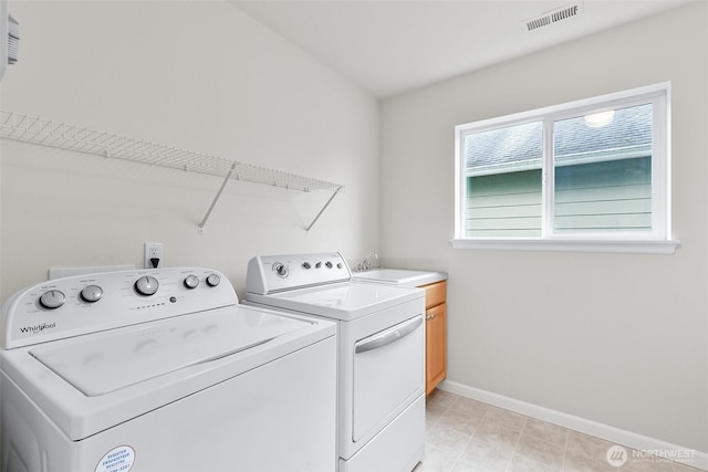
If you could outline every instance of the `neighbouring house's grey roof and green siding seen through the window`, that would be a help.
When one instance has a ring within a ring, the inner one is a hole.
[[[600,126],[580,113],[551,120],[550,157],[543,120],[466,132],[464,237],[650,233],[653,113],[652,103],[635,103]]]

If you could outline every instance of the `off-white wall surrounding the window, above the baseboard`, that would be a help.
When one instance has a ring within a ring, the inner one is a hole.
[[[664,81],[675,255],[451,249],[455,125]],[[707,105],[705,2],[382,104],[382,253],[449,272],[448,379],[708,451]]]

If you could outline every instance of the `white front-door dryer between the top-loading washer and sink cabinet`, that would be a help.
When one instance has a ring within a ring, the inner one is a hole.
[[[409,472],[425,452],[425,292],[352,281],[336,252],[250,260],[246,302],[337,324],[337,470]]]

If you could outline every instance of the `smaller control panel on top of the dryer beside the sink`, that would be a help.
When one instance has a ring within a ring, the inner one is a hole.
[[[248,263],[246,291],[266,295],[351,279],[352,271],[339,252],[259,255]]]

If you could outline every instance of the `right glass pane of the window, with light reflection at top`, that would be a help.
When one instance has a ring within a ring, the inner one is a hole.
[[[555,233],[652,231],[652,113],[554,122]]]

